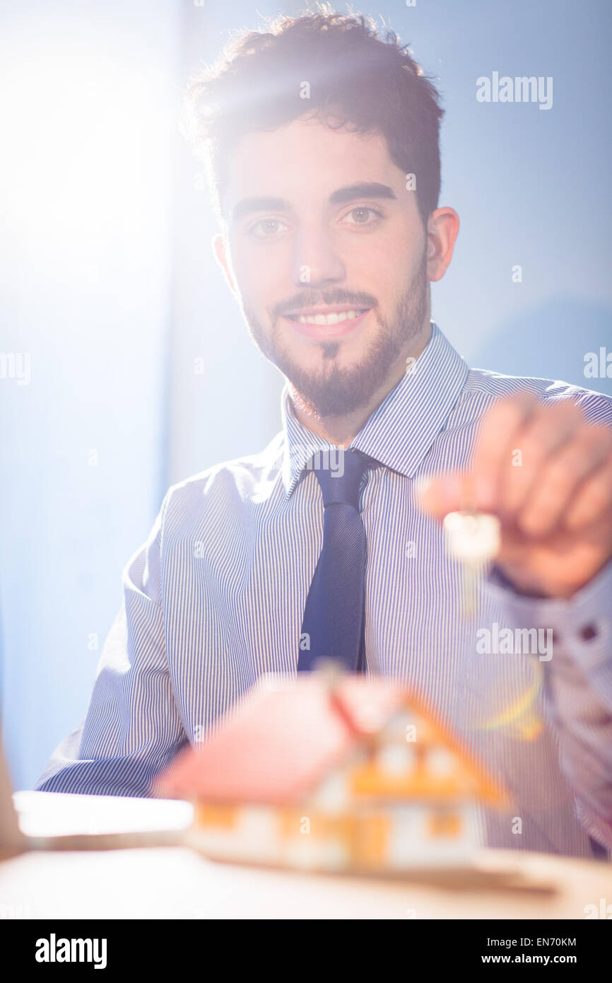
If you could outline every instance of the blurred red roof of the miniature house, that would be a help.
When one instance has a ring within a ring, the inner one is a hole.
[[[397,682],[309,672],[297,679],[266,677],[205,744],[179,756],[159,787],[163,795],[206,802],[297,802],[352,752],[384,742],[386,728],[402,710],[414,711],[422,722],[419,740],[448,748],[459,768],[479,778],[450,736]],[[480,783],[490,791],[484,778]]]

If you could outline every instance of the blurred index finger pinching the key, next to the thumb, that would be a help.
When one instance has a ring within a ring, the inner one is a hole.
[[[527,425],[536,402],[529,392],[519,392],[496,403],[484,417],[473,457],[476,508],[490,512],[499,505],[500,471],[510,461],[517,434]]]

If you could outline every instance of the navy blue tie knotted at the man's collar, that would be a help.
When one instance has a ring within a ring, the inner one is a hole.
[[[325,456],[325,455],[323,455]],[[350,672],[364,669],[365,530],[360,515],[362,478],[374,462],[359,450],[340,452],[344,474],[314,473],[323,492],[323,548],[306,598],[298,671],[329,659]],[[309,643],[309,649],[303,645]]]

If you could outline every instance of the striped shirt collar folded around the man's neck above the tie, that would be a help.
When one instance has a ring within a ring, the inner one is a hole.
[[[468,373],[467,363],[432,321],[429,341],[416,363],[374,410],[350,446],[412,478],[457,402]],[[300,423],[287,383],[281,414],[285,434],[282,478],[289,496],[315,451],[331,450],[335,444]]]

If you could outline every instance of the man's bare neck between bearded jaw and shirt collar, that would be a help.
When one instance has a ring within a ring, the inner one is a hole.
[[[320,417],[315,413],[307,413],[302,408],[304,401],[294,397],[293,407],[297,419],[313,434],[323,437],[324,440],[329,440],[330,443],[335,443],[338,447],[347,447],[355,439],[357,434],[360,433],[372,413],[378,409],[400,379],[406,375],[408,360],[418,358],[429,340],[430,333],[431,327],[427,316],[426,323],[423,325],[421,331],[418,332],[416,337],[411,338],[406,350],[393,363],[382,385],[372,393],[367,403],[354,410],[353,413],[347,413],[344,416],[337,417]],[[290,393],[293,394],[294,392],[295,390],[290,384]]]

